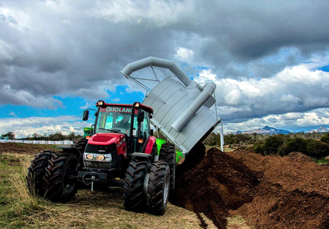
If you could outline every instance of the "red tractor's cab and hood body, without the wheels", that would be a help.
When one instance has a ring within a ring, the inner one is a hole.
[[[92,136],[83,152],[86,172],[79,172],[79,177],[87,179],[91,171],[105,172],[108,173],[106,181],[109,181],[124,176],[132,153],[155,157],[156,138],[150,128],[152,108],[141,103],[107,104],[104,101],[98,101],[96,107]],[[83,120],[88,119],[89,110],[84,111]]]

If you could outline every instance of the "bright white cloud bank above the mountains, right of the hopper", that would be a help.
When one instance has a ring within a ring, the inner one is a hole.
[[[202,70],[195,80],[201,84],[208,81],[216,83],[218,114],[224,117],[223,121],[240,122],[243,121],[241,118],[329,107],[329,91],[323,87],[329,82],[329,73],[313,71],[304,65],[287,67],[270,78],[240,81],[218,79],[208,69]]]

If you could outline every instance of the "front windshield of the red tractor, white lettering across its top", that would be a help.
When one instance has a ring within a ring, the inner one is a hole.
[[[129,107],[106,107],[100,108],[96,132],[125,133],[129,134],[131,124],[131,111]]]

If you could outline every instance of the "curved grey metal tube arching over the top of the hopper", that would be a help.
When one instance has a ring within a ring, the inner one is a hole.
[[[129,78],[133,72],[150,66],[170,70],[170,72],[172,72],[186,87],[192,81],[173,61],[152,56],[127,64],[120,72],[122,75]]]

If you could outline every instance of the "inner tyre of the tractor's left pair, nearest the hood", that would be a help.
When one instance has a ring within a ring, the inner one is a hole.
[[[50,201],[66,203],[77,193],[76,167],[79,158],[73,153],[52,154],[44,175],[45,197]]]

